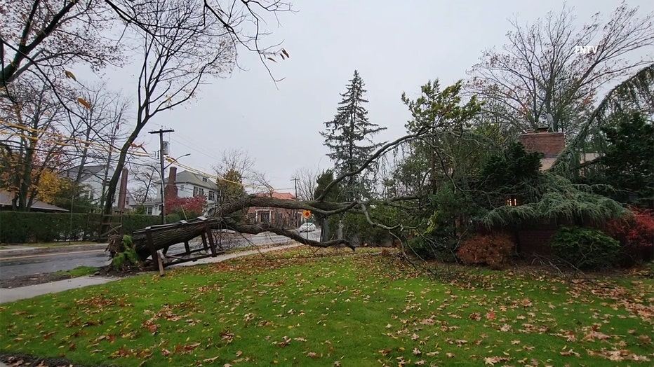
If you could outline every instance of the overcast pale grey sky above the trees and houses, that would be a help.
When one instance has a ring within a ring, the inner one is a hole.
[[[650,0],[627,4],[640,6],[641,15],[654,10]],[[608,18],[620,1],[568,5],[581,25],[596,12]],[[280,14],[279,28],[269,25],[268,43],[283,41],[291,55],[269,64],[274,76],[285,78],[279,90],[258,58],[241,50],[247,71],[203,85],[198,99],[157,115],[146,130],[173,128],[166,136],[171,155],[191,153],[180,162],[206,172],[213,172],[225,148],[243,148],[278,191],[293,192],[296,169],[331,166],[319,131],[333,118],[354,69],[366,83],[371,122],[388,128],[378,139],[394,139],[410,117],[402,92],[413,97],[429,79],[449,85],[466,78],[481,50],[506,42],[508,18],[518,15],[524,24],[562,6],[524,0],[295,0],[296,13]],[[149,151],[159,148],[156,135],[144,132],[139,141]]]

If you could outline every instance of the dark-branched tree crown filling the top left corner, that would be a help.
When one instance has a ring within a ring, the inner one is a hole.
[[[18,0],[0,4],[0,86],[27,71],[44,77],[68,76],[76,62],[101,69],[124,60],[119,43],[108,37],[119,23],[101,0]]]

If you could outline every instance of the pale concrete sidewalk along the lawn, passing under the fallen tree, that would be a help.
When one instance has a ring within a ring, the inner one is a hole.
[[[221,261],[229,260],[230,258],[237,258],[240,256],[248,256],[253,254],[265,253],[269,251],[276,251],[281,249],[290,249],[292,247],[303,246],[297,242],[293,244],[284,244],[276,247],[267,247],[265,249],[254,249],[248,251],[234,252],[233,254],[218,255],[215,258],[201,258],[198,261],[189,261],[188,263],[182,263],[179,265],[173,265],[169,268],[177,268],[180,266],[192,266],[208,263],[220,263]],[[98,284],[105,284],[107,282],[112,282],[121,278],[112,278],[112,277],[78,277],[72,279],[59,280],[57,282],[35,284],[33,286],[20,286],[18,288],[0,288],[0,303],[13,302],[15,300],[22,300],[25,298],[32,298],[36,296],[41,296],[42,294],[47,293],[58,293],[62,291],[67,291],[69,289],[83,288],[85,286],[95,286]],[[3,367],[0,362],[0,367]]]

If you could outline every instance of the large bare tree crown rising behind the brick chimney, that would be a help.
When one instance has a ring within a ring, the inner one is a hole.
[[[575,27],[573,9],[550,12],[533,25],[513,30],[502,51],[485,50],[467,85],[486,103],[488,117],[518,130],[538,127],[550,115],[554,131],[575,132],[591,113],[601,88],[652,62],[627,61],[638,50],[651,50],[654,14],[638,16],[623,2],[610,20],[599,13]],[[589,46],[581,54],[580,46]]]

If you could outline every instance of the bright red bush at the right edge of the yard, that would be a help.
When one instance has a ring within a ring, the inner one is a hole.
[[[632,216],[614,219],[606,225],[606,233],[620,241],[623,266],[654,258],[654,213],[638,208],[629,210]]]

